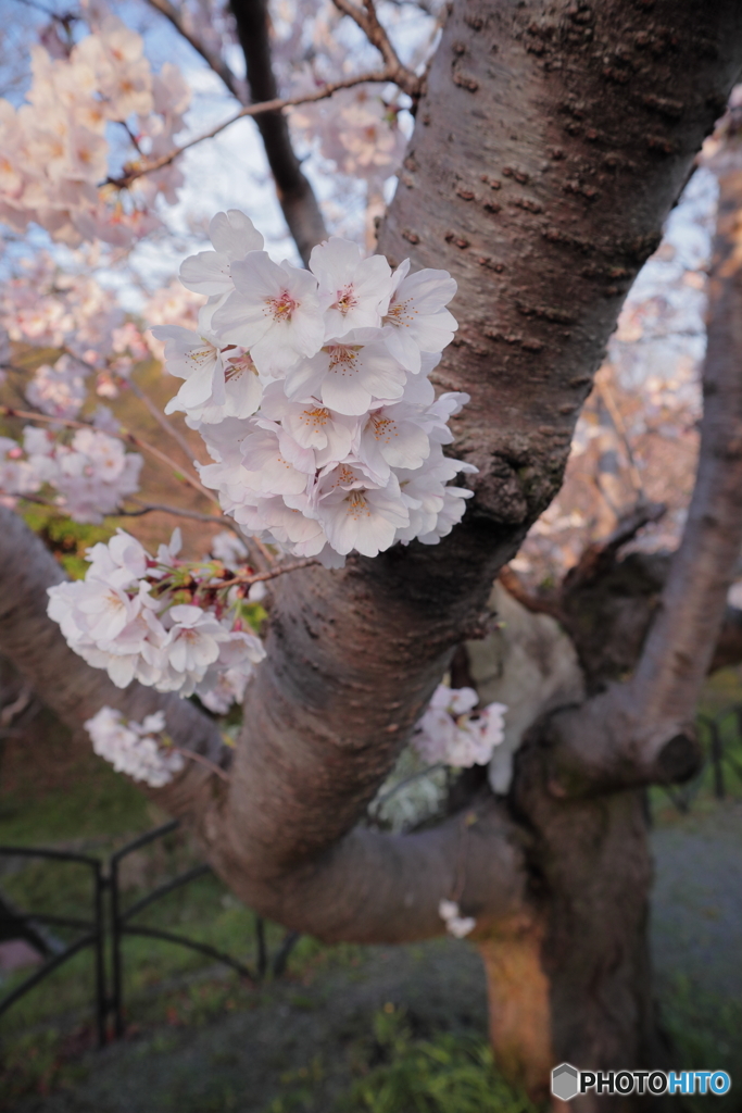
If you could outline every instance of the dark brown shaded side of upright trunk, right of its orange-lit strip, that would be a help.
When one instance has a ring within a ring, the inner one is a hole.
[[[532,745],[520,756],[515,807],[534,831],[530,869],[548,983],[551,1065],[666,1068],[649,954],[652,863],[643,790],[558,800],[544,784]],[[585,1095],[577,1106],[597,1104]]]

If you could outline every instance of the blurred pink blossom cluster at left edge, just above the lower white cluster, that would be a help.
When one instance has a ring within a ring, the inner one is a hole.
[[[27,425],[22,445],[0,437],[0,495],[13,499],[49,485],[57,505],[76,522],[100,523],[139,490],[142,463],[100,430],[80,429],[65,444],[55,433]]]

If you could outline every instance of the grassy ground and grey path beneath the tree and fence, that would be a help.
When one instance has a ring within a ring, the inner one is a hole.
[[[28,776],[28,765],[9,746],[0,843],[105,856],[162,820],[87,750],[72,747],[70,756],[69,742],[60,740],[47,752],[40,781]],[[742,1080],[742,780],[726,772],[726,799],[714,798],[708,772],[686,814],[661,790],[653,792],[651,930],[659,999],[677,1068],[725,1067],[735,1083]],[[131,855],[122,878],[126,903],[187,867],[196,854],[176,833]],[[6,857],[0,889],[28,907],[79,913],[90,894],[75,868]],[[142,922],[254,963],[253,914],[214,877],[171,894]],[[269,925],[274,952],[280,937]],[[0,995],[21,976],[7,975]],[[88,952],[0,1017],[0,1107],[534,1113],[493,1070],[482,968],[466,942],[329,948],[304,938],[281,979],[256,985],[190,952],[131,938],[126,1004],[127,1037],[96,1050]],[[702,1110],[711,1100],[696,1099],[687,1107]],[[742,1111],[735,1085],[728,1097],[713,1101],[719,1113]]]

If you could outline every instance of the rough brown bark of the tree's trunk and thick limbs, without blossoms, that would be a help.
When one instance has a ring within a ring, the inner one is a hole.
[[[655,1065],[662,1051],[639,786],[695,756],[689,720],[742,525],[740,391],[723,358],[736,337],[715,361],[710,345],[691,525],[632,684],[536,725],[509,801],[481,791],[400,838],[354,825],[556,492],[623,295],[741,63],[736,0],[454,3],[379,250],[459,283],[438,383],[473,395],[455,449],[479,467],[474,505],[433,549],[278,582],[229,785],[192,766],[157,794],[246,900],[323,938],[435,934],[438,900],[459,896],[477,917],[499,1060],[534,1093],[554,1056],[606,1068]],[[739,286],[724,276],[720,335]],[[181,745],[218,757],[192,707],[117,692],[65,647],[43,615],[53,561],[0,514],[0,649],[44,700],[72,723],[102,702],[131,716],[165,706]]]

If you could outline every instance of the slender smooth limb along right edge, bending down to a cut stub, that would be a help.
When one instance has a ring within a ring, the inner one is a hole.
[[[562,788],[672,780],[694,767],[693,719],[742,548],[742,171],[720,178],[695,487],[655,619],[630,683],[553,725]],[[607,723],[598,727],[598,722]]]

